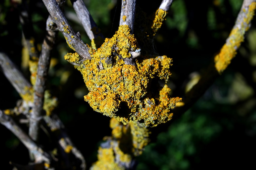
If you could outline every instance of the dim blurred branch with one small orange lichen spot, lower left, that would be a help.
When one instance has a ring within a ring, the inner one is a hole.
[[[50,127],[51,131],[55,134],[56,138],[59,140],[58,143],[67,154],[72,152],[77,159],[81,161],[81,169],[86,168],[86,162],[82,153],[74,146],[70,137],[68,136],[65,127],[59,117],[55,114],[52,116],[44,116],[46,124]],[[63,156],[65,157],[65,155]]]

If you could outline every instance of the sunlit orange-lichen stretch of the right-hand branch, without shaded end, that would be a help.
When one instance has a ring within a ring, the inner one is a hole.
[[[236,56],[237,49],[244,41],[244,34],[249,29],[249,23],[254,16],[255,8],[256,2],[253,2],[249,7],[240,11],[236,24],[229,34],[226,43],[222,46],[219,54],[215,56],[215,68],[220,74],[228,67],[231,60]]]

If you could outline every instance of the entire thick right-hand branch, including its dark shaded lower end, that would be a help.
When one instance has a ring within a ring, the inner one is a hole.
[[[209,65],[198,83],[187,92],[186,97],[184,97],[184,100],[182,101],[184,103],[183,106],[176,107],[173,110],[175,119],[189,109],[205,93],[214,80],[228,67],[231,60],[236,56],[237,49],[244,41],[244,35],[249,30],[251,20],[255,15],[255,9],[255,0],[243,1],[236,23],[231,30],[226,43],[214,57],[214,61]]]

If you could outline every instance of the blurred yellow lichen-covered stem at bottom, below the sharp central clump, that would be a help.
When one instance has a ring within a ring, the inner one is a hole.
[[[99,147],[98,161],[90,169],[134,169],[134,157],[141,155],[149,142],[148,128],[137,121],[123,125],[115,118],[110,120],[110,128],[112,136],[104,137],[106,141]]]

